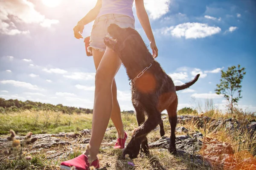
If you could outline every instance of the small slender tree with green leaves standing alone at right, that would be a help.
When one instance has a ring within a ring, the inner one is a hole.
[[[228,101],[227,107],[233,114],[233,107],[237,105],[241,96],[241,82],[244,78],[245,68],[240,68],[240,65],[232,66],[227,71],[221,70],[221,83],[217,84],[215,89],[216,94],[223,94]],[[236,95],[238,93],[238,96]]]

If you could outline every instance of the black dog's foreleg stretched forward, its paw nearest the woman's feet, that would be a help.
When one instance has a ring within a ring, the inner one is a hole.
[[[140,152],[140,144],[145,142],[143,146],[148,147],[147,140],[145,140],[146,135],[160,124],[161,115],[157,108],[148,107],[146,112],[148,113],[148,119],[140,125],[140,127],[134,130],[130,142],[123,151],[123,157],[125,157],[126,154],[129,154],[131,159],[137,158]]]

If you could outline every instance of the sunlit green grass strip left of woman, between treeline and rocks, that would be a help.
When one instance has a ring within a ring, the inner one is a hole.
[[[91,124],[92,114],[69,115],[52,111],[0,114],[0,134],[8,134],[10,129],[22,135],[28,131],[32,131],[34,134],[76,132],[91,128]]]

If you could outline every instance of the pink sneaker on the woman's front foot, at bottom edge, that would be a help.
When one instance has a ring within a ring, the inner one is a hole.
[[[84,154],[81,154],[74,159],[61,162],[60,169],[61,170],[70,170],[71,167],[73,167],[73,166],[76,167],[76,170],[88,170],[90,166],[99,168],[99,160],[98,159],[94,160],[91,164],[89,164],[87,156]]]

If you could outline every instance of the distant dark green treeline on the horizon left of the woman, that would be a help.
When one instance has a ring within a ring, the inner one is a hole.
[[[61,111],[62,113],[93,113],[92,109],[86,108],[76,108],[76,107],[69,107],[59,105],[52,105],[46,104],[41,102],[32,102],[26,100],[22,102],[17,99],[3,99],[0,98],[0,113],[12,112],[12,111],[19,111],[19,110],[35,110],[35,111],[43,111],[43,110],[50,110],[50,111]]]

